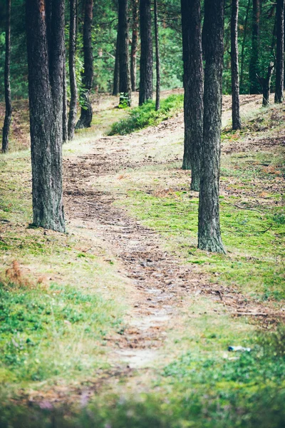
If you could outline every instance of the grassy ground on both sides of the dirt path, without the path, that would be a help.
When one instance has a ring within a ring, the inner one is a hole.
[[[271,124],[270,113],[262,112],[260,118]],[[256,123],[248,122],[249,131],[242,136],[225,132],[226,148],[247,138],[248,132],[260,132],[253,128]],[[270,134],[265,127],[261,132]],[[87,148],[80,146],[79,150]],[[76,151],[75,145],[66,148],[68,154]],[[142,223],[159,230],[165,248],[194,263],[201,272],[209,272],[212,281],[234,285],[245,294],[281,306],[281,157],[279,149],[246,155],[229,153],[222,161],[222,232],[227,256],[196,250],[197,195],[189,198],[189,175],[180,174],[180,165],[128,171],[128,179],[120,180],[120,185],[123,190],[133,190],[118,203],[128,206]],[[0,343],[5,353],[1,354],[0,376],[6,382],[4,394],[12,393],[11,388],[41,389],[44,382],[51,387],[83,387],[88,380],[92,382],[90,370],[108,367],[105,336],[120,329],[123,309],[118,300],[125,292],[123,279],[116,264],[110,265],[96,251],[88,250],[94,243],[86,241],[80,228],[72,230],[75,235],[27,228],[31,221],[28,153],[5,156],[1,171],[0,244],[5,266],[1,270],[4,319]],[[271,185],[276,187],[270,192]],[[23,266],[18,285],[9,283],[4,275],[15,259]],[[6,317],[8,305],[11,310]],[[205,297],[193,297],[191,309],[185,309],[182,317],[181,330],[169,332],[165,344],[169,362],[145,381],[145,390],[150,393],[137,395],[135,383],[128,386],[130,396],[124,398],[125,388],[120,383],[117,389],[114,386],[113,395],[96,398],[79,416],[72,416],[71,410],[66,416],[63,410],[62,417],[61,409],[57,410],[58,426],[283,427],[284,334],[263,339],[248,320],[231,319],[218,303]],[[254,345],[254,351],[231,360],[223,350],[232,343]],[[142,382],[139,373],[138,380]],[[20,420],[23,427],[50,427],[55,417],[48,410],[35,411],[32,419],[31,411],[21,414],[19,406],[13,411],[14,422],[6,410],[15,427],[20,426]],[[1,427],[8,426],[5,416],[1,420]]]

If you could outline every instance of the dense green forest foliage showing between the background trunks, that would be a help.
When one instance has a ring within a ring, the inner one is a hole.
[[[11,1],[11,93],[12,98],[28,96],[28,66],[26,58],[26,26],[24,0]],[[202,1],[202,19],[203,19]],[[133,1],[129,1],[129,37],[133,31]],[[224,17],[224,72],[223,93],[231,93],[231,1],[225,2]],[[152,3],[153,9],[153,3]],[[258,73],[265,76],[271,61],[275,61],[276,44],[276,4],[260,1],[259,58]],[[4,99],[4,63],[5,63],[5,10],[6,1],[0,1],[0,97]],[[160,85],[161,89],[182,87],[182,29],[180,0],[166,0],[158,4],[158,26],[160,41]],[[152,19],[152,26],[154,20]],[[81,90],[81,71],[83,68],[83,0],[78,1],[78,33],[76,51],[76,71],[78,90]],[[238,44],[240,93],[249,93],[249,66],[252,56],[253,1],[239,1]],[[93,4],[92,46],[93,46],[93,91],[112,92],[115,51],[118,29],[118,4],[115,0],[95,0]],[[66,61],[68,61],[69,39],[69,2],[66,1]],[[154,39],[154,30],[152,31]],[[138,58],[140,58],[140,39],[138,40]],[[155,63],[155,49],[153,49]],[[68,73],[68,66],[66,66]],[[140,61],[136,66],[136,83],[139,87]],[[274,86],[275,74],[271,84]],[[68,97],[70,96],[69,79]],[[155,83],[155,74],[154,74]],[[153,85],[155,88],[155,84]],[[261,88],[259,87],[259,92]]]

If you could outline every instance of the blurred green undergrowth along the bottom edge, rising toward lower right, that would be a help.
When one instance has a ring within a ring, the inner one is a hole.
[[[214,337],[212,337],[214,340]],[[219,339],[217,339],[219,342]],[[283,428],[284,328],[252,337],[251,352],[190,350],[164,367],[152,392],[107,394],[76,406],[4,407],[1,428]],[[21,424],[20,424],[21,421]]]

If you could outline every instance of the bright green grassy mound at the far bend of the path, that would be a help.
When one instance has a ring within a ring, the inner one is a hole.
[[[155,126],[174,116],[183,108],[183,96],[171,95],[160,103],[160,110],[155,111],[155,102],[149,101],[141,107],[130,110],[130,116],[114,123],[110,135],[125,135],[133,131],[138,131],[147,126]]]

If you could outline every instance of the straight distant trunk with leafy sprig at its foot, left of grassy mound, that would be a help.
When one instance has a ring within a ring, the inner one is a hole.
[[[120,106],[131,105],[129,35],[128,35],[128,0],[119,0],[119,52],[120,52]]]

